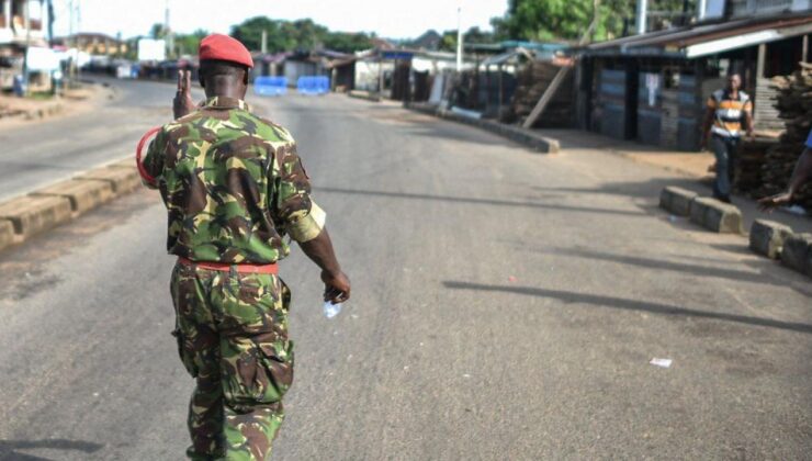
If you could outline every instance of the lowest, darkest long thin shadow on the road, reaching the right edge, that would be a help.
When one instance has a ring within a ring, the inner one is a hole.
[[[636,311],[636,312],[650,312],[653,314],[670,315],[670,316],[684,316],[695,318],[712,318],[717,321],[733,322],[737,324],[765,326],[770,328],[785,329],[789,331],[798,331],[812,334],[812,325],[799,324],[792,322],[781,322],[772,318],[763,317],[751,317],[746,315],[725,314],[720,312],[698,311],[692,308],[685,308],[673,306],[668,304],[651,303],[646,301],[627,300],[622,297],[601,296],[596,294],[586,293],[574,293],[569,291],[561,290],[545,290],[533,286],[504,286],[504,285],[486,285],[481,283],[461,282],[461,281],[444,281],[442,284],[451,290],[473,290],[473,291],[485,291],[485,292],[503,292],[503,293],[517,293],[525,294],[528,296],[539,297],[552,297],[560,300],[564,303],[574,304],[591,304],[597,307],[609,307],[623,311]]]

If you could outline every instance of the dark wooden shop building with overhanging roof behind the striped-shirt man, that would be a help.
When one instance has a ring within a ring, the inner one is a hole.
[[[780,130],[769,78],[810,58],[810,0],[709,0],[693,24],[580,50],[577,125],[621,139],[697,150],[706,101],[732,72],[757,130]]]

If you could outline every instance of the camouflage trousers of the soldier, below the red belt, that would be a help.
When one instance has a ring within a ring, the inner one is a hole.
[[[189,405],[192,460],[267,460],[293,382],[291,292],[273,274],[176,265],[180,358],[196,380]]]

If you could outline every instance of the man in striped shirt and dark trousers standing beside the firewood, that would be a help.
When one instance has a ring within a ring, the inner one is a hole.
[[[742,124],[747,136],[753,136],[753,102],[742,91],[742,77],[733,74],[728,77],[728,87],[714,91],[708,99],[708,112],[702,125],[702,148],[708,145],[717,157],[717,180],[713,182],[713,196],[730,203],[731,181],[736,165],[738,145],[742,139]]]

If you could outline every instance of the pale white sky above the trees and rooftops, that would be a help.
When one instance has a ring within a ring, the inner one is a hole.
[[[489,30],[493,16],[507,10],[507,0],[169,0],[170,24],[176,33],[196,29],[228,33],[248,18],[311,18],[331,31],[375,32],[388,38],[414,38],[429,29],[456,29],[456,9],[462,5],[462,29],[477,25]],[[77,16],[80,32],[101,32],[123,37],[147,35],[153,24],[163,22],[167,0],[74,0],[81,5]],[[70,30],[70,1],[54,0],[55,35]]]

